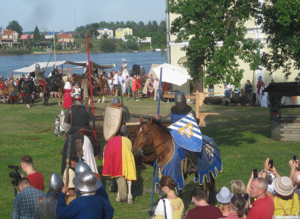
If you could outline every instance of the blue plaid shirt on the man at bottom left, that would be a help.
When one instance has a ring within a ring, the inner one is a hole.
[[[12,218],[40,218],[38,198],[45,197],[45,193],[33,186],[25,187],[13,200]]]

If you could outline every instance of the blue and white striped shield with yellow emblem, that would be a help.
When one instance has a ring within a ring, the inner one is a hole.
[[[170,125],[174,140],[186,150],[200,152],[202,148],[202,135],[191,113]]]

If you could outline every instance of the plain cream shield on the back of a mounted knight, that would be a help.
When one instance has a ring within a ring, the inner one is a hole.
[[[119,131],[122,120],[121,107],[106,106],[104,110],[103,137],[107,141]]]

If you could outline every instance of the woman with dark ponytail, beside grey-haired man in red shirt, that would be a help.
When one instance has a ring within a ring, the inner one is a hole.
[[[244,218],[245,199],[241,193],[235,194],[230,200],[230,214],[226,218],[228,219],[241,219]],[[221,219],[220,217],[218,219]]]

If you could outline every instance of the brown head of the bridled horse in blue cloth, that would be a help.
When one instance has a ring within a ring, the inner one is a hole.
[[[137,138],[134,141],[134,145],[132,146],[131,152],[134,156],[142,155],[142,151],[146,146],[152,144],[152,122],[153,118],[146,122],[143,118],[140,118],[140,126],[136,131]]]

